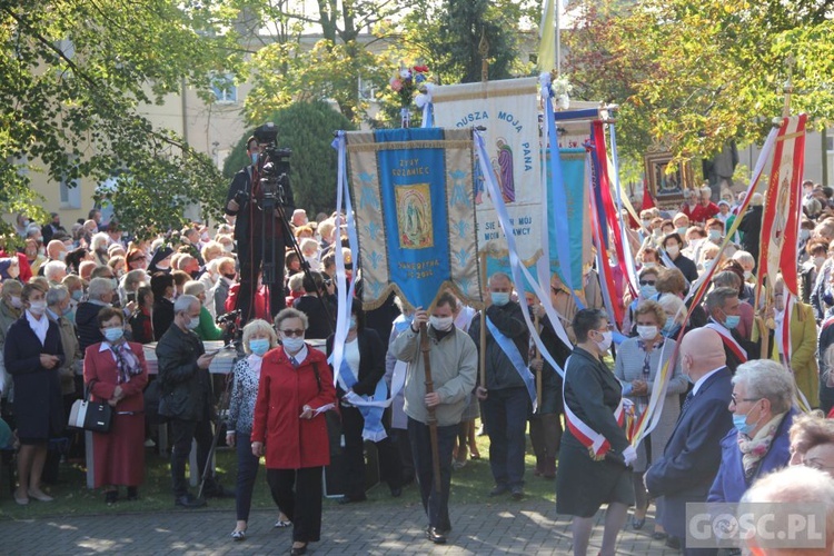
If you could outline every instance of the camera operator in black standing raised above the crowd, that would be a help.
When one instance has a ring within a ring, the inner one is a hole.
[[[251,307],[255,295],[255,281],[264,261],[265,248],[275,254],[275,282],[270,284],[269,314],[277,315],[285,306],[284,299],[284,259],[286,248],[291,245],[291,238],[285,237],[285,222],[279,214],[292,215],[295,203],[289,180],[279,180],[278,208],[272,215],[264,215],[265,187],[261,182],[264,167],[278,161],[269,160],[267,147],[274,139],[264,137],[264,126],[256,130],[256,135],[247,141],[247,155],[252,161],[235,175],[229,193],[226,198],[226,214],[235,216],[235,239],[240,261],[240,292],[238,309],[241,311],[241,322],[246,324],[252,317]],[[260,132],[260,135],[259,135]],[[275,131],[272,131],[275,133]],[[272,249],[274,247],[274,249]],[[274,289],[274,291],[272,291]]]

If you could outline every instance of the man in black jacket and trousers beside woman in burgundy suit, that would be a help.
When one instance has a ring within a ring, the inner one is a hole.
[[[161,396],[159,415],[170,418],[171,479],[173,504],[186,508],[205,506],[195,498],[186,483],[186,461],[191,455],[191,439],[197,440],[197,473],[203,476],[211,447],[211,377],[209,365],[215,354],[206,354],[200,338],[192,331],[200,321],[200,300],[180,296],[173,304],[173,324],[157,344]],[[214,470],[212,470],[214,471]],[[195,473],[195,469],[191,470]],[[206,477],[206,496],[234,496],[215,479]]]

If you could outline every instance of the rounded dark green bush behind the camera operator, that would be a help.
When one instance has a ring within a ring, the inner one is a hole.
[[[337,152],[330,147],[337,130],[353,130],[354,125],[327,102],[295,102],[276,110],[264,121],[272,121],[278,131],[277,147],[292,150],[290,183],[296,207],[308,214],[330,212],[336,206]],[[260,123],[264,123],[261,121]],[[231,177],[249,163],[246,139],[240,138],[224,166]]]

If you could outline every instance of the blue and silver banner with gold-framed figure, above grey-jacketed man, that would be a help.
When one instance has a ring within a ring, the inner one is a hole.
[[[428,308],[444,288],[466,305],[480,305],[471,133],[345,133],[366,309],[391,291]]]

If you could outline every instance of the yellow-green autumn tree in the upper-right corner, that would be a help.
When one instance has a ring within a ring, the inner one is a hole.
[[[566,38],[567,67],[579,95],[620,105],[632,155],[658,143],[678,159],[709,157],[729,140],[761,141],[790,68],[793,112],[817,127],[834,116],[830,1],[595,3],[583,2]]]

